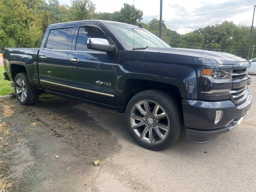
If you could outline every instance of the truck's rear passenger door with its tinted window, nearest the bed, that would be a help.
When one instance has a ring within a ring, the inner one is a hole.
[[[69,94],[68,55],[72,47],[76,23],[52,26],[44,37],[38,56],[40,84],[44,90]]]

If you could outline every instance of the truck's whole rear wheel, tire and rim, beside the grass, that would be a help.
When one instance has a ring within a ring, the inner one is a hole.
[[[38,101],[39,94],[34,94],[26,73],[18,73],[16,75],[14,89],[16,97],[22,105],[31,105]]]

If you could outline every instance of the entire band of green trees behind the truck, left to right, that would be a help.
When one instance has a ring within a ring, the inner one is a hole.
[[[58,0],[0,0],[0,50],[5,47],[39,47],[50,24],[75,20],[112,20],[138,25],[159,36],[159,20],[153,18],[141,23],[143,12],[134,5],[124,6],[113,13],[96,13],[90,0],[72,0],[72,6],[60,5]],[[199,28],[187,34],[178,34],[162,23],[162,39],[172,47],[228,52],[247,58],[250,26],[236,26],[224,21],[214,26]],[[256,45],[253,28],[252,47]],[[250,58],[252,55],[252,47]],[[254,51],[253,58],[256,57]]]

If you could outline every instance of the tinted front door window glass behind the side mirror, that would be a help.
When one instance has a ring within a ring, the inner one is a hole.
[[[87,49],[86,42],[88,38],[108,39],[107,36],[95,27],[80,27],[76,39],[76,51],[92,51]],[[95,51],[95,50],[93,50]]]

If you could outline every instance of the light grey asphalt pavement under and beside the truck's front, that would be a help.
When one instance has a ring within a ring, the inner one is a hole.
[[[255,75],[249,89],[255,98]],[[88,112],[98,125],[110,130],[122,147],[104,162],[95,179],[95,191],[256,191],[255,102],[240,126],[215,140],[186,143],[183,134],[177,144],[159,152],[132,141],[124,130],[124,114],[86,104],[76,108]]]

